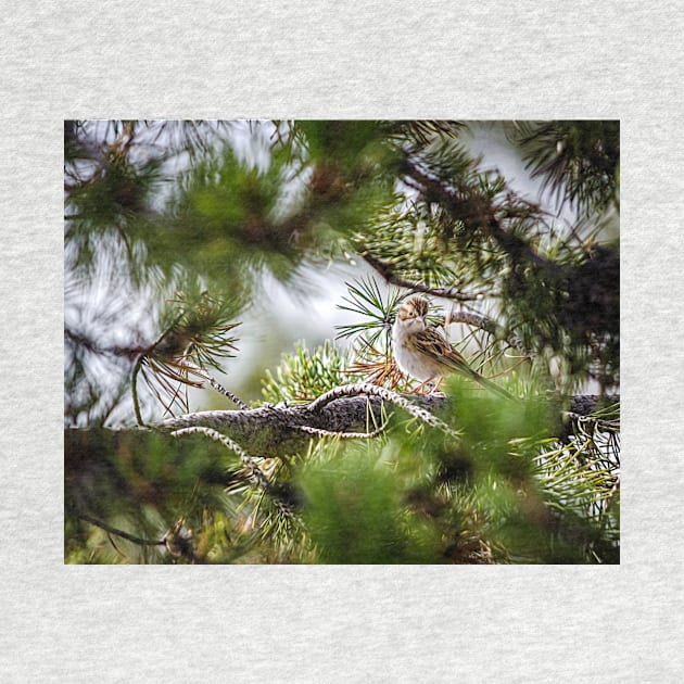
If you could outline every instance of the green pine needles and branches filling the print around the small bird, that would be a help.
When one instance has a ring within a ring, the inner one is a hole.
[[[539,197],[472,153],[487,131]],[[617,122],[85,121],[64,143],[67,562],[619,561]],[[354,321],[284,351],[252,407],[218,384],[265,276],[305,297],[335,263],[367,268]],[[416,293],[515,400],[402,375]],[[193,413],[199,388],[237,409]]]

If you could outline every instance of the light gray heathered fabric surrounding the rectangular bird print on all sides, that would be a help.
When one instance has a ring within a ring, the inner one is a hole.
[[[674,1],[4,8],[0,680],[676,681],[683,23]],[[622,565],[64,567],[62,119],[122,116],[620,118]]]

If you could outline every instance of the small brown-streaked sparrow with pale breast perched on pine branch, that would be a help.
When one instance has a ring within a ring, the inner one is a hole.
[[[392,326],[392,349],[400,369],[423,384],[430,381],[439,384],[444,376],[460,372],[482,387],[512,398],[506,390],[470,368],[448,340],[428,322],[428,300],[422,296],[414,296],[398,308]]]

